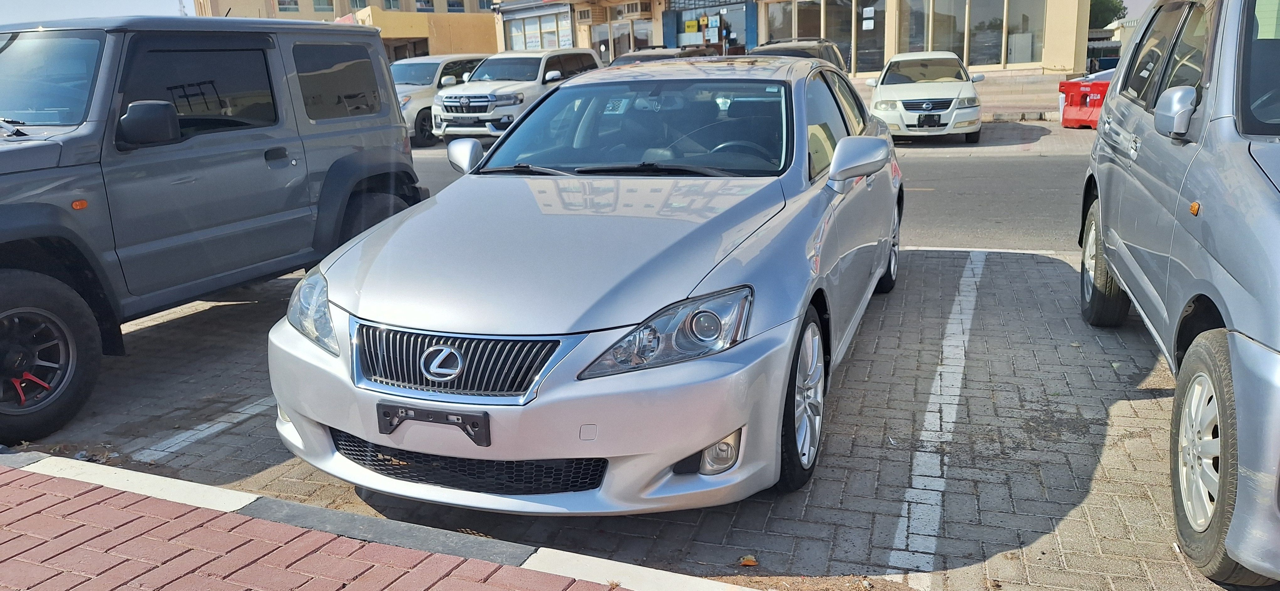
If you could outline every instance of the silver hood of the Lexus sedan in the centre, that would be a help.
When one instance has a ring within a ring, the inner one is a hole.
[[[324,269],[357,317],[463,334],[641,322],[783,206],[777,179],[463,177]]]

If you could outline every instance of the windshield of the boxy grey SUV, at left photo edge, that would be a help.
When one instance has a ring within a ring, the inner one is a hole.
[[[0,33],[0,118],[14,125],[84,122],[102,31]]]

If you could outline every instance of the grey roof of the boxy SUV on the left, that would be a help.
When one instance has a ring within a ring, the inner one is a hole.
[[[36,29],[102,29],[108,32],[127,31],[216,31],[216,32],[285,32],[323,31],[325,33],[344,32],[376,35],[378,29],[364,24],[325,23],[320,20],[289,20],[275,18],[221,18],[221,17],[102,17],[74,18],[65,20],[44,20],[38,23],[0,24],[0,31]]]

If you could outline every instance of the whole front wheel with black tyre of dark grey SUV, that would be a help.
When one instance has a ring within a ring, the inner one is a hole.
[[[0,444],[35,441],[79,412],[101,363],[84,299],[32,271],[0,270]]]

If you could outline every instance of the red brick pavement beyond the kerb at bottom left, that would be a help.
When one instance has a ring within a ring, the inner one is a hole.
[[[0,590],[607,591],[0,466]]]

